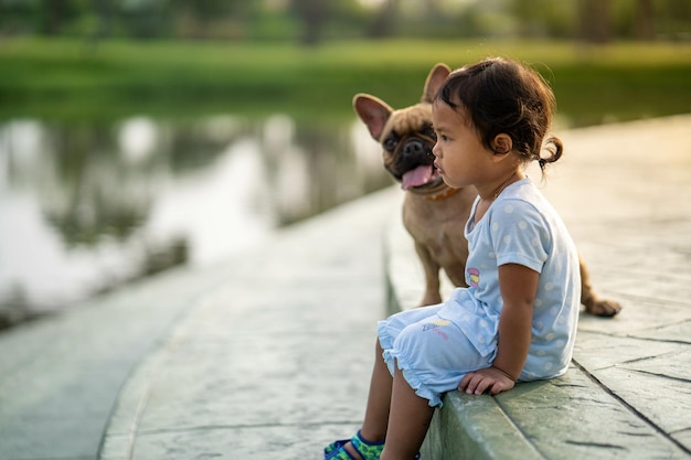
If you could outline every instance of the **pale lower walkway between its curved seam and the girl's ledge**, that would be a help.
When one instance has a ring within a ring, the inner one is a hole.
[[[392,191],[232,263],[137,368],[108,459],[318,459],[362,419]]]

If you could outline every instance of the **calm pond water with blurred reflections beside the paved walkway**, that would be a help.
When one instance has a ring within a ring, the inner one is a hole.
[[[355,120],[0,125],[0,327],[219,261],[390,183]]]

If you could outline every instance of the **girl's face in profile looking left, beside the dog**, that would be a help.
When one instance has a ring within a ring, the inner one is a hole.
[[[437,143],[432,149],[436,157],[434,164],[444,182],[460,189],[491,181],[496,174],[495,152],[485,147],[463,110],[455,110],[437,99],[432,108],[432,120],[437,135]]]

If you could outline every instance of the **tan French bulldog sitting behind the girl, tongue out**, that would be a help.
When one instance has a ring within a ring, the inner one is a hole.
[[[421,101],[397,110],[369,94],[353,97],[355,114],[383,148],[384,169],[401,183],[405,193],[403,224],[413,237],[425,272],[425,291],[419,306],[442,301],[440,269],[455,286],[467,286],[468,243],[463,229],[477,193],[474,188],[446,185],[434,167],[432,154],[436,142],[432,103],[449,73],[446,64],[436,64],[427,75]],[[614,317],[621,306],[595,293],[583,258],[580,261],[581,302],[585,310],[599,317]]]

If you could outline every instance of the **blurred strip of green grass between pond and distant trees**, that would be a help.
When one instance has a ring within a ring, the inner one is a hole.
[[[531,63],[576,125],[691,111],[691,44],[586,47],[522,41],[385,41],[293,44],[3,39],[0,118],[166,118],[231,113],[352,117],[364,92],[394,107],[421,96],[437,62],[487,55]]]

